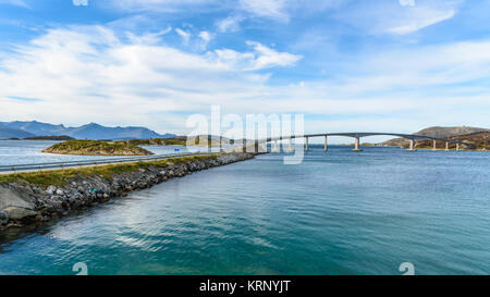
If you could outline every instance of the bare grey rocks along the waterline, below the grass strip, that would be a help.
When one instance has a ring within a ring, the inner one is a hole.
[[[77,176],[63,186],[46,188],[25,183],[0,184],[0,230],[41,224],[84,208],[124,197],[127,193],[149,188],[170,178],[193,172],[253,159],[254,153],[233,152],[206,158],[158,164],[111,175]]]

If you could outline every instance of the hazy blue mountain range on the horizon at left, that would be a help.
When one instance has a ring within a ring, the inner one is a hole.
[[[142,138],[170,138],[174,134],[158,134],[146,127],[106,127],[96,123],[90,123],[79,127],[65,127],[64,125],[53,125],[37,121],[32,122],[0,122],[0,133],[2,138],[25,138],[34,136],[61,136],[66,135],[76,139],[142,139]]]

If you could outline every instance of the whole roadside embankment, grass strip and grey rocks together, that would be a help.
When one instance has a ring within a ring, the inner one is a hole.
[[[170,178],[254,158],[232,152],[66,171],[11,174],[0,182],[0,231],[42,224]],[[88,170],[87,170],[88,169]]]

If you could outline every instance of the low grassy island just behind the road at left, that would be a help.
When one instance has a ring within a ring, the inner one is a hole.
[[[69,140],[56,144],[42,152],[78,156],[149,156],[144,148],[125,141]]]

